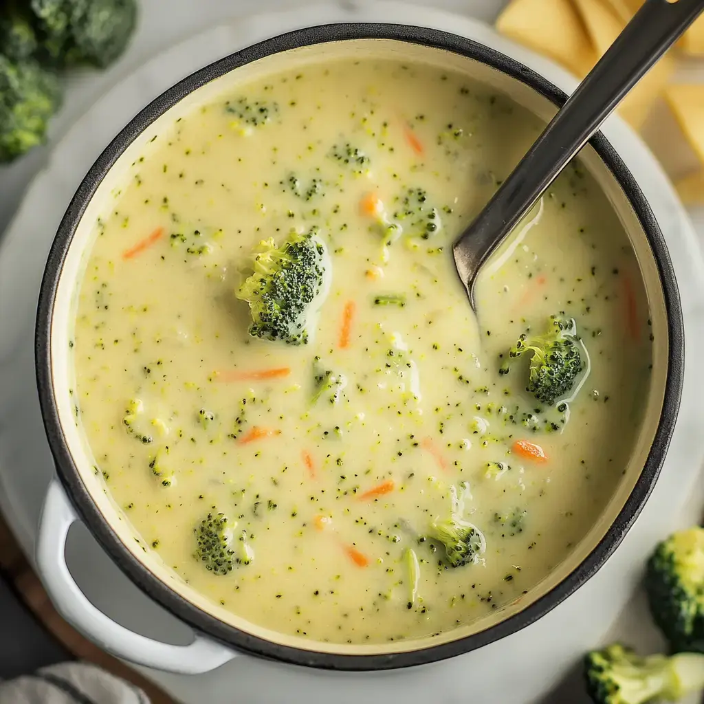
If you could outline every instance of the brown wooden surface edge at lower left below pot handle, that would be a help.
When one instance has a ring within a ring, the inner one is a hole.
[[[0,516],[0,570],[44,630],[77,660],[92,662],[142,689],[152,704],[177,704],[164,691],[122,661],[100,650],[58,615],[37,574]]]

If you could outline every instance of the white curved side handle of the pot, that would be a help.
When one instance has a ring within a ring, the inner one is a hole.
[[[68,529],[77,520],[63,487],[52,479],[39,520],[37,567],[56,610],[77,631],[116,658],[166,672],[209,672],[237,656],[231,648],[198,635],[187,646],[154,641],[103,614],[80,590],[66,565]]]

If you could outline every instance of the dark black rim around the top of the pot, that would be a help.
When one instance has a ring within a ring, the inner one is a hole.
[[[591,139],[590,144],[622,187],[624,194],[629,199],[639,218],[658,266],[665,298],[670,345],[667,360],[667,381],[660,422],[650,447],[650,453],[648,453],[648,459],[633,491],[631,491],[619,515],[596,548],[551,591],[528,605],[521,612],[484,631],[447,643],[429,644],[408,652],[347,655],[284,646],[248,634],[209,615],[175,591],[172,591],[169,586],[151,574],[142,562],[137,560],[127,550],[122,541],[113,532],[113,529],[111,529],[84,486],[80,473],[73,462],[73,457],[68,450],[51,383],[51,321],[56,288],[61,276],[65,256],[87,204],[92,199],[103,177],[106,176],[122,152],[127,149],[127,146],[139,134],[142,134],[156,118],[168,111],[172,106],[175,106],[185,96],[235,68],[257,61],[265,56],[297,49],[301,46],[340,42],[350,39],[395,39],[451,51],[489,65],[527,84],[541,96],[555,103],[556,106],[561,106],[567,99],[565,93],[541,75],[494,49],[489,49],[487,46],[455,34],[410,25],[341,23],[306,27],[305,29],[266,39],[264,42],[254,44],[242,51],[238,51],[236,54],[216,61],[175,84],[175,86],[168,89],[168,91],[161,94],[149,106],[144,108],[103,151],[77,189],[58,228],[46,263],[42,288],[39,294],[34,354],[42,417],[56,462],[58,476],[82,520],[92,534],[96,536],[101,546],[111,555],[111,558],[127,574],[127,577],[130,577],[132,582],[137,584],[154,601],[172,612],[173,615],[196,629],[196,632],[212,636],[214,639],[234,646],[235,649],[245,653],[296,665],[307,665],[329,670],[386,670],[396,667],[422,665],[467,653],[470,650],[480,648],[519,631],[555,608],[563,599],[567,598],[592,577],[619,545],[643,508],[643,504],[650,495],[650,491],[653,490],[655,481],[660,473],[660,467],[665,458],[667,447],[670,444],[674,422],[679,410],[684,373],[684,330],[679,291],[667,246],[658,227],[658,222],[656,222],[655,216],[650,210],[650,206],[648,206],[648,202],[641,193],[641,189],[633,175],[631,175],[631,172],[629,172],[626,165],[601,132],[598,132]]]

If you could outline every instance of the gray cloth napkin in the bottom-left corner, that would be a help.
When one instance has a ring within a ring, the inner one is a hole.
[[[149,699],[99,667],[64,662],[0,682],[0,704],[149,704]]]

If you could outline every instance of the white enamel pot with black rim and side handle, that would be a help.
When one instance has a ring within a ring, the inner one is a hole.
[[[268,39],[187,77],[144,108],[98,158],[61,222],[39,296],[37,384],[57,479],[42,512],[37,564],[59,612],[120,658],[161,670],[196,673],[218,667],[239,653],[331,670],[408,667],[467,653],[531,624],[595,574],[639,515],[658,478],[681,396],[684,334],[679,294],[665,241],[646,199],[634,176],[598,133],[580,158],[608,198],[636,255],[639,283],[650,309],[653,367],[632,451],[619,468],[620,482],[566,560],[522,598],[475,623],[432,639],[365,646],[308,641],[234,617],[144,549],[108,495],[77,423],[71,329],[92,226],[140,151],[179,115],[227,87],[282,67],[291,70],[350,56],[395,58],[463,73],[543,120],[551,118],[566,99],[540,75],[470,39],[404,25],[324,25]],[[86,525],[134,584],[194,630],[192,643],[175,646],[148,639],[113,622],[89,602],[65,564],[65,541],[76,521]]]

